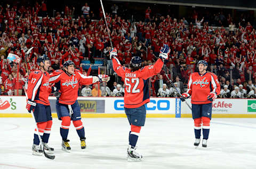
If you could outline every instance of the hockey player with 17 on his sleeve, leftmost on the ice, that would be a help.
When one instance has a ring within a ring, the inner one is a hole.
[[[44,149],[47,150],[49,154],[52,154],[54,153],[54,149],[47,145],[52,127],[52,114],[48,99],[52,88],[49,85],[50,75],[47,72],[51,61],[47,56],[39,56],[36,62],[39,69],[29,74],[26,108],[29,113],[33,111],[40,137],[42,137]],[[43,155],[43,150],[39,147],[39,138],[36,129],[32,151],[33,155]]]

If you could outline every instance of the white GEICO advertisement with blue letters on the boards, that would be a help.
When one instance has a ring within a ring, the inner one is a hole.
[[[123,97],[107,99],[106,105],[106,113],[124,113]],[[145,106],[147,113],[175,114],[174,98],[150,98],[150,102]]]

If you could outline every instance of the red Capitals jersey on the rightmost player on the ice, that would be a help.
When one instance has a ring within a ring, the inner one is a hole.
[[[217,75],[214,73],[205,73],[203,75],[198,72],[191,73],[188,80],[188,94],[191,95],[192,104],[208,104],[211,103],[207,99],[210,92],[220,94],[220,83]]]

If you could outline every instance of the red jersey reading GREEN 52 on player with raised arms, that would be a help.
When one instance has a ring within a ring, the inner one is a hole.
[[[138,71],[120,64],[117,58],[112,58],[113,69],[125,82],[124,107],[137,108],[149,102],[148,78],[159,73],[163,67],[163,61],[158,59],[154,65],[142,67]]]

